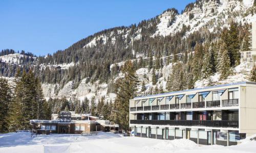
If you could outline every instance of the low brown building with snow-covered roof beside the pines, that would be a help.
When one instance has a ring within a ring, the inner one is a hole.
[[[118,133],[119,125],[111,124],[109,120],[99,120],[99,117],[75,112],[60,112],[52,114],[51,120],[30,120],[33,132],[36,134],[81,134],[96,131]]]

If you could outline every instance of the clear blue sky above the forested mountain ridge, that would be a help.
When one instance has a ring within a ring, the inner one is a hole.
[[[0,1],[0,49],[39,55],[65,49],[98,31],[138,23],[195,0]]]

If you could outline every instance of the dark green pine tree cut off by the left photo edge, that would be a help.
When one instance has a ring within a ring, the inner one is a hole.
[[[0,133],[8,132],[8,112],[12,98],[11,94],[8,81],[0,78]]]

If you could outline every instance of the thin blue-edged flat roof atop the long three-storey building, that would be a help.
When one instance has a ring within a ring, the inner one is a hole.
[[[167,94],[175,94],[175,93],[181,93],[181,92],[186,92],[186,91],[196,91],[196,90],[203,90],[203,89],[211,89],[211,88],[216,88],[216,87],[226,87],[226,86],[233,86],[233,85],[242,85],[242,84],[256,85],[256,82],[236,82],[236,83],[230,83],[230,84],[208,86],[208,87],[203,87],[203,88],[195,88],[195,89],[188,89],[188,90],[180,90],[180,91],[152,94],[152,95],[146,95],[146,96],[138,96],[138,97],[134,97],[133,99],[154,97],[154,96],[167,95]]]

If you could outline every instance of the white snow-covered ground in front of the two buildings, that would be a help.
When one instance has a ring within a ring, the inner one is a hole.
[[[38,135],[8,133],[0,135],[0,152],[44,152],[44,146],[64,148],[70,152],[255,152],[256,141],[245,141],[237,146],[199,146],[187,139],[158,140],[138,137],[121,137],[118,134],[100,133],[97,136]]]

